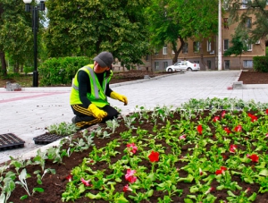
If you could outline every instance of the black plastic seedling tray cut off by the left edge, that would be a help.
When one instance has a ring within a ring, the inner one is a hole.
[[[13,148],[23,148],[25,141],[19,139],[13,133],[0,135],[0,151]]]

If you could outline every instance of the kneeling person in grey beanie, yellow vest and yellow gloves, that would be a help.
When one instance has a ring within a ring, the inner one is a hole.
[[[70,104],[75,116],[72,123],[85,129],[96,123],[105,123],[116,118],[119,112],[110,106],[107,97],[112,97],[128,105],[127,97],[114,92],[109,87],[112,79],[113,55],[102,52],[76,73],[71,87]]]

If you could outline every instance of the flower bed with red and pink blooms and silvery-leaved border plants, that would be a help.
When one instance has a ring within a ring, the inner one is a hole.
[[[1,198],[11,189],[8,202],[267,202],[267,108],[216,98],[138,107],[2,167]]]

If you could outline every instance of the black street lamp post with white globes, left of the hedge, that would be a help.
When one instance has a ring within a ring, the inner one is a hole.
[[[34,33],[34,72],[33,87],[38,87],[38,11],[45,11],[45,0],[36,6],[30,5],[32,0],[23,0],[25,11],[32,13],[32,31]]]

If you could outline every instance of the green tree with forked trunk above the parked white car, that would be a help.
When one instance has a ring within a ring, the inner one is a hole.
[[[217,8],[217,0],[153,0],[147,8],[151,44],[157,48],[171,44],[176,63],[188,38],[203,40],[217,32]]]

